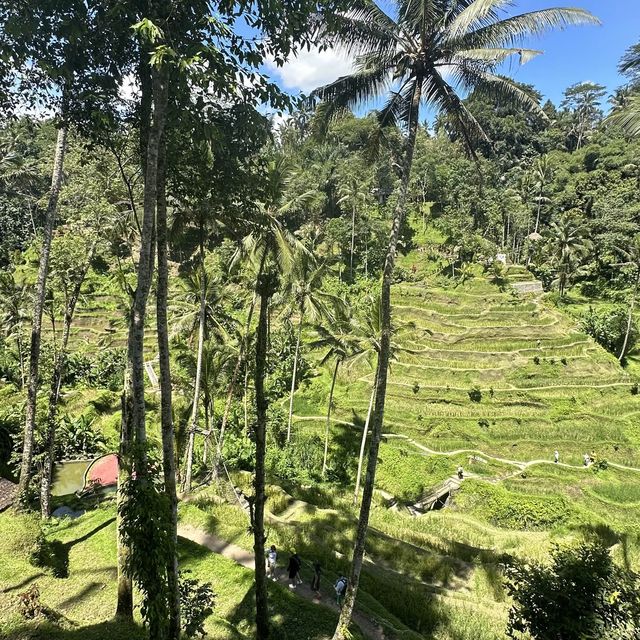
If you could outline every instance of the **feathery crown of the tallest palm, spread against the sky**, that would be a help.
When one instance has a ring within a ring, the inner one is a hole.
[[[487,92],[539,109],[513,81],[495,73],[517,55],[526,62],[541,53],[520,43],[551,28],[599,24],[587,11],[553,8],[505,17],[513,0],[394,0],[388,14],[373,0],[359,0],[339,22],[332,43],[355,55],[356,71],[316,90],[327,110],[353,107],[388,93],[383,123],[406,124],[412,105],[424,102],[450,117],[468,148],[486,138],[458,90]]]

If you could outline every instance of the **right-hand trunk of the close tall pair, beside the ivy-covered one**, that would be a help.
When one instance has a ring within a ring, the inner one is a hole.
[[[170,559],[167,565],[169,599],[168,640],[180,638],[180,590],[178,585],[178,496],[176,489],[175,436],[171,411],[171,362],[169,358],[169,325],[167,296],[169,290],[169,259],[167,241],[166,142],[162,137],[158,152],[158,201],[156,209],[156,255],[158,282],[156,321],[158,328],[158,359],[160,372],[160,424],[162,431],[162,470],[164,490],[169,500]]]

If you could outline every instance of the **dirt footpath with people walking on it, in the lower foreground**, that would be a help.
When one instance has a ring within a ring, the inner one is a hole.
[[[227,542],[218,536],[211,535],[202,529],[198,529],[197,527],[193,527],[188,524],[179,524],[178,535],[181,538],[186,538],[187,540],[191,540],[191,542],[195,542],[196,544],[206,547],[225,558],[229,558],[251,571],[255,568],[254,557],[250,551],[247,551],[232,542]],[[282,568],[279,571],[277,581],[284,586],[288,584],[287,576]],[[325,591],[330,590],[329,595],[320,595],[318,597],[306,583],[298,585],[295,590],[292,589],[292,591],[305,600],[309,600],[319,606],[328,607],[338,613],[338,605],[333,599],[333,586],[328,584],[327,581],[325,581],[325,583],[327,583]],[[363,635],[369,640],[390,640],[388,636],[385,635],[382,627],[375,620],[366,617],[360,611],[354,610],[353,621],[358,625]]]

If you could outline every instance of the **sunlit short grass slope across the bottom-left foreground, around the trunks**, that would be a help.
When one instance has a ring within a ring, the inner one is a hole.
[[[189,505],[185,505],[189,506]],[[224,511],[229,518],[231,510]],[[245,525],[246,526],[246,525]],[[115,514],[112,505],[77,520],[47,526],[49,541],[58,541],[68,577],[56,578],[28,561],[39,530],[35,516],[0,515],[0,637],[7,640],[125,640],[143,638],[139,626],[113,620],[116,601]],[[253,573],[203,547],[180,541],[180,566],[192,577],[211,582],[215,612],[206,622],[207,638],[249,640],[254,637]],[[37,584],[50,619],[26,621],[18,613],[19,594]],[[324,640],[335,629],[337,615],[307,602],[279,585],[269,585],[273,633],[290,640]],[[357,634],[354,638],[358,639]],[[361,640],[361,639],[360,639]]]

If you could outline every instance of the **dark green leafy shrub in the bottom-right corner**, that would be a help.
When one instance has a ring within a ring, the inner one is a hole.
[[[547,640],[634,638],[640,625],[639,577],[617,567],[602,543],[554,547],[551,564],[507,567],[514,603],[507,634]]]

